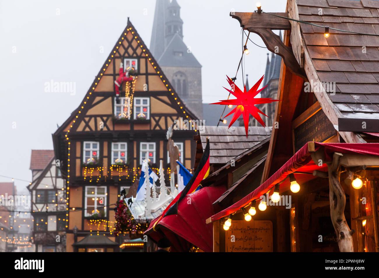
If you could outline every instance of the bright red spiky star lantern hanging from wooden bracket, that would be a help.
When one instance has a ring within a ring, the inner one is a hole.
[[[264,90],[267,87],[266,85],[262,89],[258,90],[264,75],[261,79],[258,80],[257,83],[255,83],[255,85],[248,92],[246,92],[246,86],[244,86],[242,91],[240,88],[237,87],[236,84],[234,84],[232,79],[230,79],[228,76],[226,77],[230,87],[232,87],[232,90],[226,89],[225,87],[223,88],[226,89],[233,96],[235,96],[236,99],[225,99],[221,100],[218,103],[211,104],[236,105],[236,107],[232,111],[230,111],[230,113],[227,114],[224,118],[234,113],[233,118],[229,123],[229,127],[231,127],[232,124],[242,115],[247,137],[247,130],[249,128],[249,115],[252,115],[260,124],[262,124],[262,126],[266,126],[259,113],[265,115],[266,117],[268,116],[261,110],[259,110],[255,105],[263,103],[273,103],[274,101],[278,100],[272,98],[255,98],[255,96],[258,95],[258,93],[262,92],[262,90]]]

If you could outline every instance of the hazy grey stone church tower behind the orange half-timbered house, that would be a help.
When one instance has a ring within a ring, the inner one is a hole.
[[[202,119],[201,65],[183,42],[176,0],[157,0],[150,50],[185,105]]]

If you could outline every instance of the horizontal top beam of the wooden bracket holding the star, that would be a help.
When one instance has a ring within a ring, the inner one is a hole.
[[[288,12],[271,12],[278,16],[288,17]],[[271,30],[291,30],[288,19],[257,12],[230,12],[230,16],[240,22],[245,30],[249,28],[269,28]]]

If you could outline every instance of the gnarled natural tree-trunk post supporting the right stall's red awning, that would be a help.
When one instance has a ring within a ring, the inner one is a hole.
[[[337,236],[340,252],[354,252],[352,234],[345,218],[346,195],[340,183],[341,153],[333,154],[333,161],[328,165],[330,218]]]

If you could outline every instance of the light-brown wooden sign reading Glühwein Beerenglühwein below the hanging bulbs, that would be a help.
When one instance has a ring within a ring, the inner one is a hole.
[[[225,231],[226,252],[273,252],[273,223],[266,220],[232,220]]]

